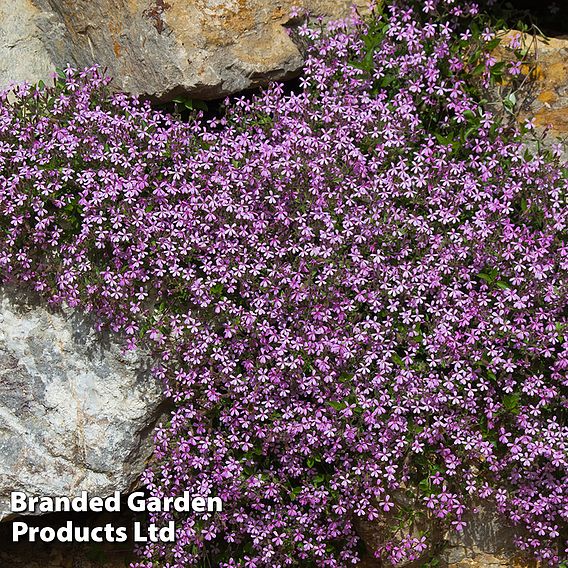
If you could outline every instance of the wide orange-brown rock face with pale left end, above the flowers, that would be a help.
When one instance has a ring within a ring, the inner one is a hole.
[[[3,28],[22,15],[26,22],[4,40],[14,48],[0,52],[5,58],[0,84],[45,79],[52,66],[82,68],[97,63],[107,68],[119,90],[158,100],[179,94],[220,97],[298,73],[302,56],[286,28],[294,22],[294,7],[300,13],[308,10],[338,18],[350,13],[351,4],[351,0],[24,0],[23,4],[0,0]],[[30,51],[35,61],[30,60]],[[17,66],[19,75],[13,70]]]

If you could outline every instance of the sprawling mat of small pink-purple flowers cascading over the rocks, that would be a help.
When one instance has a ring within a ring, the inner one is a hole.
[[[299,92],[209,122],[96,68],[3,96],[3,281],[150,346],[176,408],[144,481],[224,501],[136,567],[350,566],[362,522],[426,562],[479,503],[565,561],[566,170],[479,104],[476,14],[303,27]]]

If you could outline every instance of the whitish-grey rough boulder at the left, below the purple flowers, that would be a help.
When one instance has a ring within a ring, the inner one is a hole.
[[[152,451],[161,388],[149,361],[76,313],[0,293],[0,519],[11,491],[126,492]]]

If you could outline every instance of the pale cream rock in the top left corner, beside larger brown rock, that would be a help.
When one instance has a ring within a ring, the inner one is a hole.
[[[55,71],[36,25],[31,0],[0,0],[0,87],[47,81]]]

